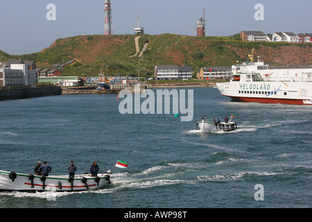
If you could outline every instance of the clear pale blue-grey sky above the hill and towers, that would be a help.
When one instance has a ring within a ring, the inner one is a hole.
[[[104,34],[105,0],[1,0],[0,50],[35,53],[64,37]],[[55,20],[46,19],[55,5]],[[206,35],[241,31],[312,33],[311,0],[111,0],[113,34],[134,34],[137,15],[144,33],[194,35],[205,10]],[[263,19],[257,3],[263,6]],[[190,31],[191,30],[191,31]]]

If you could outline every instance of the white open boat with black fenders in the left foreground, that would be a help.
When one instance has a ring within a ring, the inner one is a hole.
[[[110,184],[111,172],[64,176],[36,176],[33,174],[0,171],[0,191],[84,191],[100,189]]]

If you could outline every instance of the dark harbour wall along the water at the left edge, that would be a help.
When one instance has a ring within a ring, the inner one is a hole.
[[[39,96],[62,94],[61,87],[31,87],[21,89],[0,89],[0,101],[6,99],[27,99]]]

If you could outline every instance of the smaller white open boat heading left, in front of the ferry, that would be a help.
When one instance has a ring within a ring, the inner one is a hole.
[[[204,133],[216,131],[232,131],[237,128],[237,124],[232,121],[232,118],[227,122],[214,123],[213,121],[198,121],[196,122],[196,130],[201,130]]]

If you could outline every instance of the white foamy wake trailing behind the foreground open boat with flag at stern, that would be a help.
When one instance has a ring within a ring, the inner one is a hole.
[[[222,167],[223,164],[229,162],[245,162],[241,159],[231,159],[227,161],[216,161],[210,163],[210,167]],[[221,165],[221,166],[220,166]],[[211,168],[212,169],[212,168]],[[93,189],[88,191],[76,192],[36,192],[28,193],[21,191],[1,192],[0,196],[12,196],[14,198],[42,198],[47,200],[57,200],[69,195],[88,195],[88,194],[114,194],[117,192],[127,191],[129,189],[146,189],[159,188],[172,185],[196,185],[205,181],[232,181],[232,180],[249,180],[263,176],[275,176],[283,172],[267,172],[267,171],[239,171],[220,173],[220,171],[207,171],[207,162],[191,162],[191,163],[174,163],[161,162],[159,165],[144,169],[137,173],[121,172],[114,173],[112,176],[112,184],[105,189]]]

